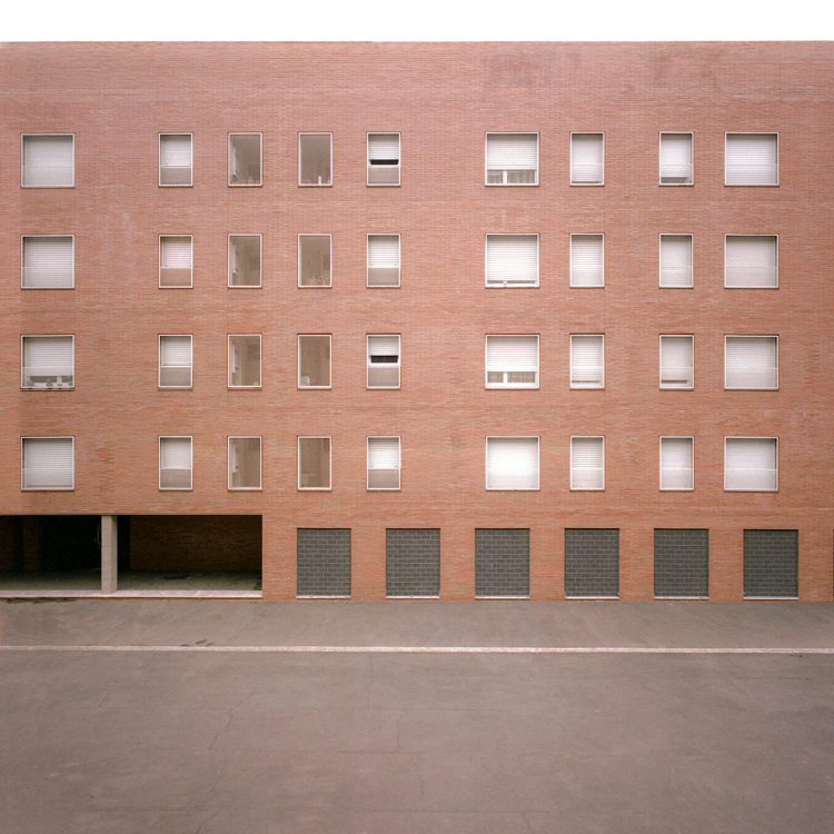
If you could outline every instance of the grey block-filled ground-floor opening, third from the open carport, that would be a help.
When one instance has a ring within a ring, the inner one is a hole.
[[[475,596],[528,596],[530,532],[475,530]]]

